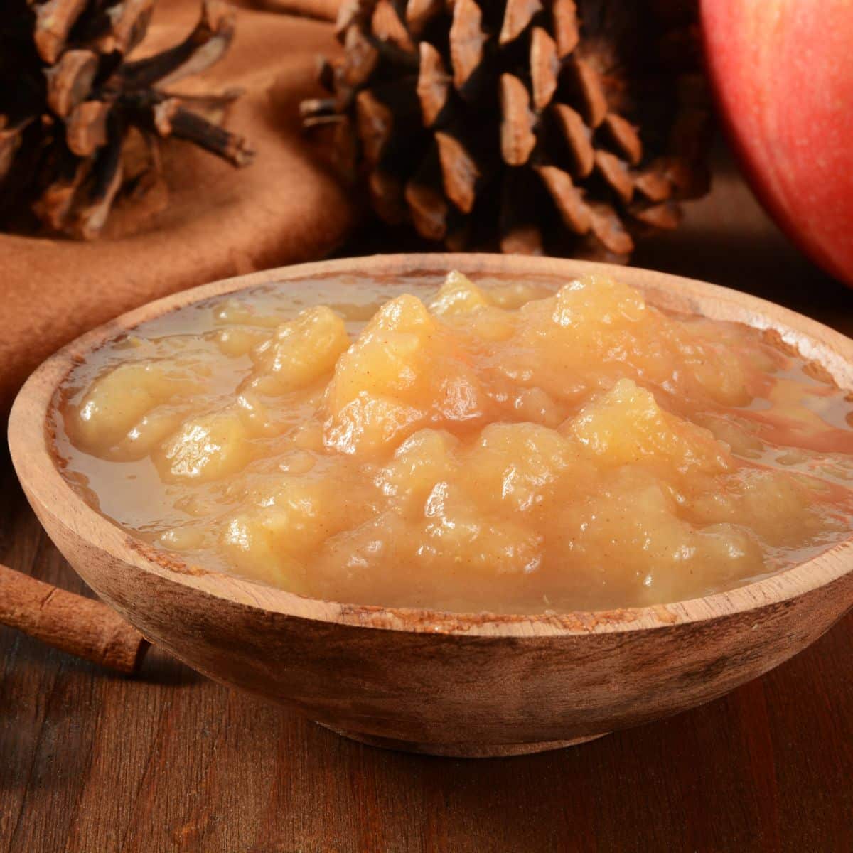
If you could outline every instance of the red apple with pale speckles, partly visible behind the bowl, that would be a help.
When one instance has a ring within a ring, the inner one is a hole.
[[[705,58],[751,187],[853,287],[853,0],[701,0]]]

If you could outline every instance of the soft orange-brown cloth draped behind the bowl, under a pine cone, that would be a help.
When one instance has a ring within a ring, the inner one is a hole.
[[[183,39],[199,8],[160,3],[143,48]],[[312,160],[298,115],[316,90],[316,56],[335,45],[328,23],[239,9],[229,53],[202,80],[245,90],[227,124],[257,150],[253,165],[168,142],[168,205],[142,230],[90,243],[0,235],[0,415],[32,369],[86,329],[184,287],[322,257],[344,239],[351,203]],[[125,219],[119,211],[113,232],[127,231]]]

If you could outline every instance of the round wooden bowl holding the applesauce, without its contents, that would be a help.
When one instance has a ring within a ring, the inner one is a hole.
[[[32,374],[9,422],[32,508],[86,583],[148,639],[206,676],[380,746],[513,755],[589,740],[714,699],[815,641],[853,605],[853,535],[757,583],[665,606],[559,616],[454,614],[318,601],[191,569],[90,508],[61,477],[47,415],[56,387],[114,335],[199,299],[328,276],[546,275],[604,271],[656,305],[775,329],[853,389],[853,341],[699,281],[552,258],[399,255],[218,281],[120,316]]]

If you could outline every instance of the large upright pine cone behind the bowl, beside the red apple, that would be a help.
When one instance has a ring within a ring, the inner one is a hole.
[[[625,260],[708,188],[695,0],[346,0],[304,102],[387,223]]]

